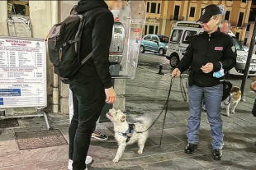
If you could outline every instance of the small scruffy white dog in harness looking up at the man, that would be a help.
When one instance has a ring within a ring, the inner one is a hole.
[[[115,139],[118,143],[116,157],[113,159],[113,162],[118,162],[126,149],[126,145],[133,144],[135,141],[138,142],[140,148],[138,154],[142,154],[145,141],[149,136],[149,131],[146,131],[151,122],[149,118],[140,117],[137,120],[141,123],[128,124],[128,122],[126,122],[126,114],[122,113],[121,110],[115,109],[110,109],[106,116],[114,124]],[[139,131],[145,132],[137,133]]]

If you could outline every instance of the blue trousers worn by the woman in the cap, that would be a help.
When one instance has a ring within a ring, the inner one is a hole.
[[[208,122],[211,126],[211,137],[213,149],[222,149],[223,131],[222,119],[220,116],[220,103],[223,94],[223,85],[212,87],[198,87],[192,85],[188,87],[188,99],[190,115],[187,119],[187,141],[197,144],[199,142],[199,129],[201,122],[201,103],[205,99]]]

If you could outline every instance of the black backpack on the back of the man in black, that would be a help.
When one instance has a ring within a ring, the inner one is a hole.
[[[92,55],[89,53],[81,61],[81,35],[87,15],[88,11],[84,14],[71,11],[71,14],[64,21],[55,24],[50,29],[48,34],[50,62],[53,64],[55,74],[61,77],[61,80],[67,80],[64,78],[73,76]]]

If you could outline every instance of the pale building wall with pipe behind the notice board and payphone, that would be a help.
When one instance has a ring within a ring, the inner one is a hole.
[[[0,35],[46,39],[53,25],[69,16],[73,5],[78,1],[0,1]],[[47,50],[47,49],[46,49]],[[49,113],[69,113],[69,86],[63,84],[53,73],[47,56],[46,86],[47,108]],[[126,80],[114,81],[116,103],[114,108],[125,108]],[[35,108],[8,109],[7,113],[35,112]]]

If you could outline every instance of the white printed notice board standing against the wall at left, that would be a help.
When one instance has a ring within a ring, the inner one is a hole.
[[[0,108],[46,106],[45,39],[0,36]]]

